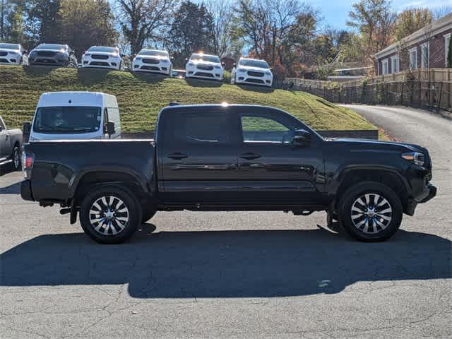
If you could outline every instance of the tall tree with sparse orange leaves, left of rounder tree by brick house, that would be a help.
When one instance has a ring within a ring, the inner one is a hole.
[[[388,0],[359,0],[352,7],[347,25],[359,30],[364,59],[372,64],[372,55],[393,41],[396,13]]]

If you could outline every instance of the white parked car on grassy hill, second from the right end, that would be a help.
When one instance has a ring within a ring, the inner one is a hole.
[[[216,55],[194,53],[185,66],[185,78],[203,78],[223,81],[223,65]]]

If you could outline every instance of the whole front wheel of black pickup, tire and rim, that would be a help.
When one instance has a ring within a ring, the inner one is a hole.
[[[364,204],[359,202],[360,198]],[[340,198],[337,212],[345,232],[362,242],[389,239],[397,232],[403,216],[396,192],[378,182],[362,182],[347,189]]]

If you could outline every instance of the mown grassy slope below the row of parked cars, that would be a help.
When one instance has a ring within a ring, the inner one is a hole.
[[[375,129],[350,109],[315,95],[210,81],[189,81],[148,74],[97,69],[46,69],[0,66],[0,115],[9,128],[30,121],[41,93],[91,90],[116,95],[123,131],[154,129],[157,113],[170,101],[186,104],[228,102],[279,107],[314,129]]]

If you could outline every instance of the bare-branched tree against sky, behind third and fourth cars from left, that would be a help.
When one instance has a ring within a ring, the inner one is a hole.
[[[145,42],[161,41],[179,0],[117,0],[121,29],[137,54]]]

